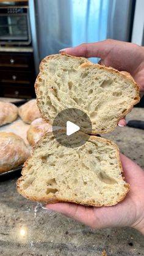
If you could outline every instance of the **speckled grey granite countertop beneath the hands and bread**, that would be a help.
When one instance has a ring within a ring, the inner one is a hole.
[[[127,119],[144,120],[144,108],[134,108]],[[116,142],[121,152],[144,167],[143,130],[117,127],[104,137]],[[0,255],[100,256],[104,249],[108,256],[144,255],[144,236],[137,230],[92,230],[23,198],[16,192],[16,179],[0,183]]]

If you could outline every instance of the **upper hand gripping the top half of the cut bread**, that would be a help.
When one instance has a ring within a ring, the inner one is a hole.
[[[144,94],[144,47],[134,43],[107,39],[97,43],[82,43],[77,47],[65,48],[60,50],[60,53],[84,56],[85,58],[101,58],[101,65],[131,73],[140,86],[140,96]],[[126,121],[121,119],[118,124],[125,126]]]

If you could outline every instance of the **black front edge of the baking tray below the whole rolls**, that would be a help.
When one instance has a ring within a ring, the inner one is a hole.
[[[10,171],[5,171],[5,173],[0,173],[0,182],[4,181],[5,179],[11,179],[11,178],[15,178],[16,176],[20,176],[22,168],[23,168],[23,165],[20,165],[19,167],[13,168]]]

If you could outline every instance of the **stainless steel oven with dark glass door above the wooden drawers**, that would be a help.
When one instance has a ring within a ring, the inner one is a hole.
[[[0,45],[30,45],[29,6],[0,6]]]

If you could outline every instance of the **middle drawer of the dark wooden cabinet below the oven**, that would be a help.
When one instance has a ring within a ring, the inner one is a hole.
[[[0,70],[0,85],[26,85],[34,84],[34,75],[32,72],[18,72]]]

